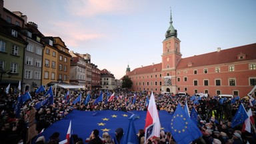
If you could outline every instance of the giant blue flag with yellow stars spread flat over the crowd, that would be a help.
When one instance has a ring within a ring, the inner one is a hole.
[[[115,137],[115,130],[122,128],[125,131],[129,127],[130,117],[136,116],[134,121],[135,131],[138,133],[139,129],[144,129],[145,119],[147,111],[78,111],[73,110],[65,118],[53,123],[50,127],[45,129],[43,133],[37,135],[40,137],[43,135],[45,141],[49,141],[49,137],[59,132],[59,140],[63,141],[66,138],[66,131],[69,127],[69,121],[72,121],[72,134],[78,135],[83,139],[83,142],[91,135],[93,129],[99,130],[99,136],[102,137],[104,132],[108,132],[112,138]],[[167,111],[159,111],[159,119],[161,123],[161,129],[163,131],[169,131],[168,127],[171,119],[171,114]],[[37,137],[35,139],[37,139]]]

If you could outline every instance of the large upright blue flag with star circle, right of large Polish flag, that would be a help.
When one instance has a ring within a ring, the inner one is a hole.
[[[170,131],[171,135],[173,135],[173,139],[175,139],[178,144],[191,143],[202,136],[197,125],[195,125],[191,118],[185,113],[180,104],[177,106],[171,118]]]

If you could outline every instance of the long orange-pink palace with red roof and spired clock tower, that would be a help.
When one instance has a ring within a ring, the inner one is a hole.
[[[156,93],[208,93],[244,97],[256,85],[256,43],[203,55],[182,58],[177,30],[170,26],[163,40],[162,63],[139,67],[126,75],[133,81],[133,91]]]

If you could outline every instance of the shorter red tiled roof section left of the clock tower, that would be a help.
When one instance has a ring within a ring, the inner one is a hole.
[[[136,68],[130,72],[130,75],[139,75],[139,74],[144,74],[144,73],[155,73],[155,72],[159,72],[159,71],[162,71],[162,63],[157,63],[154,65],[148,65],[145,67]]]

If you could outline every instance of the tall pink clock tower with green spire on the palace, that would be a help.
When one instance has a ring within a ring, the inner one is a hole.
[[[162,91],[176,93],[176,67],[181,60],[181,41],[177,38],[177,30],[173,27],[172,16],[170,16],[170,26],[165,33],[163,40],[162,54]]]

